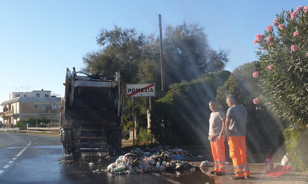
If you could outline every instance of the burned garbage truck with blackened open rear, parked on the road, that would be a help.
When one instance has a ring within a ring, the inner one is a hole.
[[[61,142],[66,154],[97,154],[121,148],[120,72],[88,75],[67,68],[61,109]]]

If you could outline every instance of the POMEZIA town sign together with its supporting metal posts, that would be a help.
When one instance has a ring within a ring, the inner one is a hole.
[[[155,83],[147,84],[126,84],[126,96],[132,98],[132,115],[133,115],[133,146],[135,146],[135,114],[134,114],[134,98],[135,97],[149,97],[150,109],[151,97],[155,97]],[[152,135],[152,133],[151,133]]]

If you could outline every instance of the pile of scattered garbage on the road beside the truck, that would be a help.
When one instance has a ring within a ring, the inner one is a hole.
[[[162,148],[133,149],[130,153],[119,156],[103,173],[112,174],[137,174],[143,172],[176,172],[177,170],[195,171],[196,166],[188,163],[185,159],[193,157],[186,150],[172,146]],[[101,173],[96,170],[93,173]]]

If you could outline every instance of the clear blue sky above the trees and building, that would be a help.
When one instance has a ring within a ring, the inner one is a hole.
[[[99,29],[116,24],[158,34],[159,13],[163,26],[198,21],[212,48],[230,49],[228,65],[237,67],[256,59],[254,35],[263,33],[276,13],[304,4],[303,0],[0,0],[0,101],[9,99],[17,86],[63,95],[66,68],[79,70],[82,56],[98,49]]]

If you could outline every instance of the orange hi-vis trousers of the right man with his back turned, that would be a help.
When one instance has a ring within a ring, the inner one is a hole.
[[[250,175],[246,156],[246,136],[229,136],[230,158],[238,177]]]

